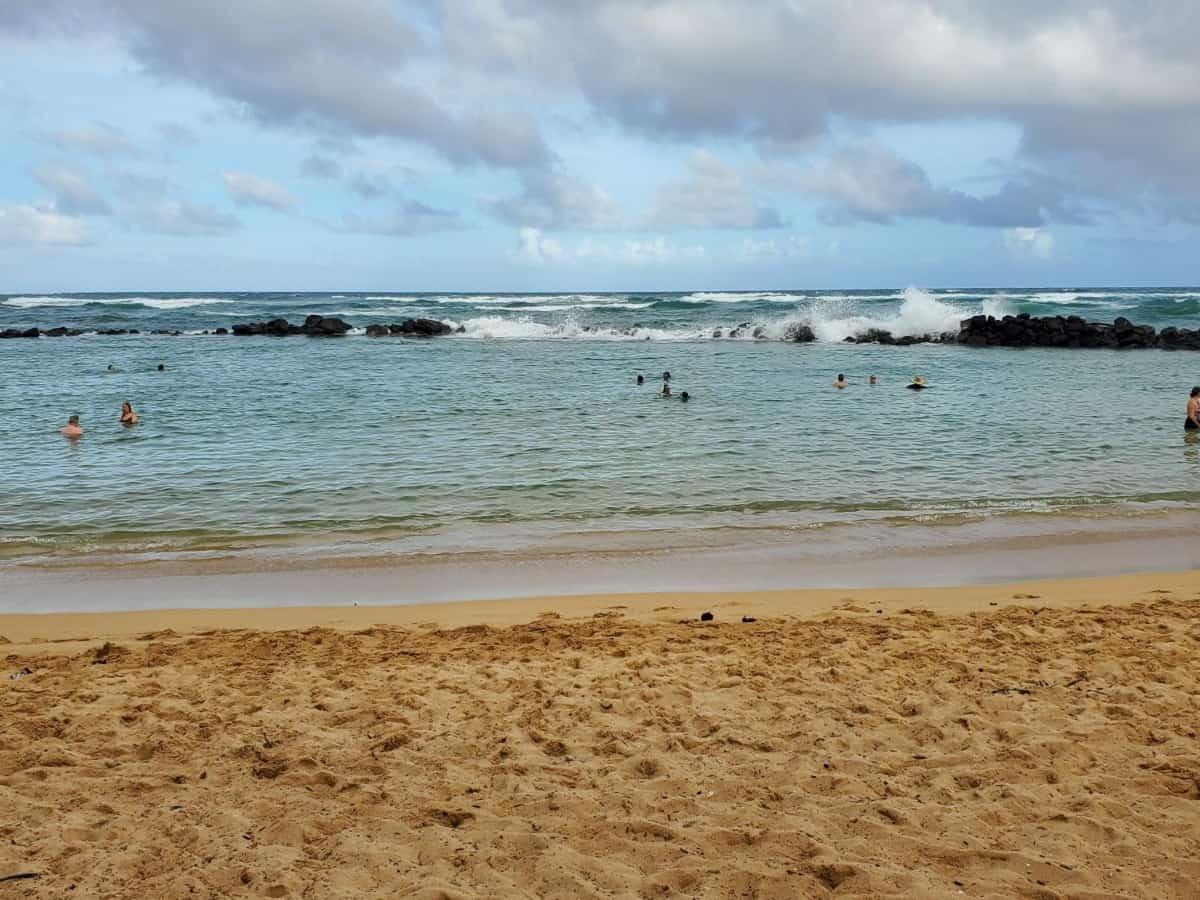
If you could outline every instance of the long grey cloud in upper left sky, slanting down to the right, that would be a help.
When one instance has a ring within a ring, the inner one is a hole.
[[[520,108],[450,108],[424,90],[410,72],[428,52],[410,24],[418,16],[386,0],[79,0],[12,18],[24,29],[104,28],[148,74],[210,91],[265,124],[412,140],[458,164],[550,158]]]

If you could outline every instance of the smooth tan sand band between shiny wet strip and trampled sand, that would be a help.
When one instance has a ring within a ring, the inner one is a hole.
[[[146,640],[232,631],[304,631],[371,628],[451,630],[506,629],[539,619],[569,622],[622,618],[647,624],[698,622],[713,612],[716,624],[815,619],[847,611],[889,617],[919,610],[970,616],[1008,607],[1084,608],[1129,606],[1162,598],[1200,601],[1200,569],[1138,572],[1098,578],[1051,578],[907,588],[805,588],[742,592],[635,592],[550,594],[460,602],[406,605],[227,606],[137,611],[0,613],[0,643],[8,653],[77,650],[96,641]]]

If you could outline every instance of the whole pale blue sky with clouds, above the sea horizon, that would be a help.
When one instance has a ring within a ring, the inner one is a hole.
[[[2,0],[0,293],[1195,286],[1200,5]]]

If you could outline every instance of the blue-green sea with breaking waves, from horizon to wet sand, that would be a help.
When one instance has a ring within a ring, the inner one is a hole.
[[[466,329],[0,341],[0,565],[638,550],[868,526],[878,540],[881,524],[1186,510],[1200,500],[1200,446],[1182,432],[1200,355],[840,337],[950,330],[983,308],[1195,326],[1198,302],[1120,289],[0,298],[0,329],[200,331],[312,312]],[[823,340],[772,340],[798,320]],[[690,403],[655,397],[664,370]],[[839,372],[848,390],[832,389]],[[913,373],[931,389],[905,390]],[[124,400],[143,416],[133,430],[116,424]],[[86,428],[76,443],[58,434],[71,413]]]

